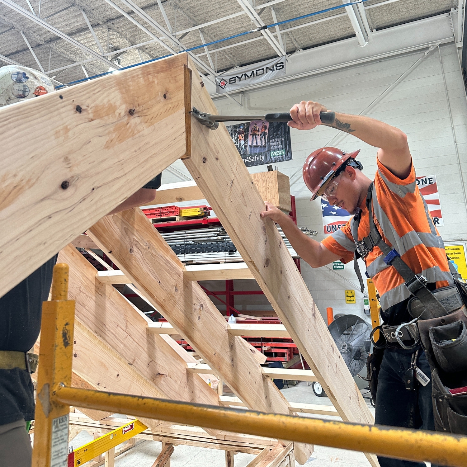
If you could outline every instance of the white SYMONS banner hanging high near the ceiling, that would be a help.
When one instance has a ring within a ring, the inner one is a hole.
[[[223,94],[285,75],[286,58],[285,56],[276,57],[272,60],[237,68],[233,73],[216,76],[216,92]]]

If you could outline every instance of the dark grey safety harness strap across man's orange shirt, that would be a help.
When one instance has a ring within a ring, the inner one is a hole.
[[[365,257],[368,253],[376,246],[385,255],[383,261],[396,268],[396,271],[402,276],[405,281],[405,285],[409,289],[410,293],[418,297],[418,299],[424,304],[427,310],[431,311],[433,316],[439,318],[449,314],[446,308],[439,302],[439,300],[432,294],[431,290],[426,287],[427,279],[421,274],[415,274],[412,269],[401,259],[400,255],[394,248],[390,248],[387,245],[375,226],[373,219],[373,210],[371,204],[371,198],[373,195],[373,182],[368,187],[366,204],[368,207],[369,226],[370,232],[367,237],[361,241],[355,241],[356,249],[354,255],[354,269],[360,281],[361,291],[364,290],[363,280],[361,278],[360,268],[357,264],[358,257]],[[360,215],[355,222],[360,223]],[[358,229],[358,227],[357,227]],[[358,255],[358,256],[357,256]]]

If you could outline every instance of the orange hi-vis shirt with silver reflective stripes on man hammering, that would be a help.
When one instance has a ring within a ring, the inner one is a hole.
[[[326,237],[324,246],[341,257],[346,263],[354,259],[355,241],[369,233],[368,208],[361,206],[361,219],[356,232],[354,218]],[[443,239],[434,226],[428,207],[418,190],[415,169],[401,180],[378,160],[372,195],[372,210],[375,226],[383,241],[394,248],[415,274],[422,273],[436,288],[452,285]],[[403,302],[410,297],[402,276],[394,266],[383,261],[384,255],[378,247],[364,258],[367,273],[373,279],[380,294],[382,310]]]

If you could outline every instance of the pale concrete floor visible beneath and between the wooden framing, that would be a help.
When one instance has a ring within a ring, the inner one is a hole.
[[[306,382],[299,382],[296,386],[285,387],[281,391],[290,402],[301,402],[319,405],[331,405],[331,401],[327,397],[315,396],[311,385],[307,386]],[[362,390],[362,393],[366,391]],[[375,414],[375,409],[371,407],[367,400],[370,411]],[[301,414],[305,417],[327,418],[340,420],[339,417]],[[85,443],[92,441],[92,436],[87,432],[80,432],[78,436],[70,443],[74,449],[83,446]],[[143,441],[138,446],[130,449],[126,453],[115,458],[115,467],[151,467],[156,460],[157,455],[161,452],[161,443],[157,441]],[[252,454],[238,453],[234,457],[234,467],[246,467],[251,460],[255,458]],[[89,463],[83,464],[84,466]],[[298,467],[297,463],[297,467]],[[361,466],[369,467],[368,460],[362,453],[355,451],[347,451],[344,449],[335,449],[325,446],[315,446],[314,453],[306,462],[305,466],[315,467],[345,467],[345,466]],[[206,449],[194,446],[175,446],[175,451],[171,456],[171,467],[224,467],[225,452],[218,449]]]

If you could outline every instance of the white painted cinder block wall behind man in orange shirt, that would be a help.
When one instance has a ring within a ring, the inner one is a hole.
[[[461,168],[467,181],[467,102],[456,57],[457,50],[452,43],[442,45],[440,50]],[[391,86],[424,53],[425,50],[416,51],[248,91],[245,92],[243,109],[227,98],[216,99],[215,103],[219,113],[254,115],[268,111],[288,111],[294,103],[311,99],[332,110],[363,113],[401,128],[409,137],[417,175],[434,174],[437,177],[445,224],[439,227],[439,232],[445,241],[465,241],[467,206],[460,181],[438,50],[432,50],[408,75]],[[389,86],[389,91],[385,92]],[[364,110],[367,107],[368,110]],[[322,240],[325,235],[320,203],[310,202],[309,191],[301,176],[304,160],[311,151],[326,145],[344,151],[361,149],[359,158],[364,165],[364,173],[373,178],[377,149],[352,135],[324,126],[307,132],[292,129],[291,138],[293,160],[277,166],[281,172],[290,176],[291,194],[296,197],[297,203],[298,225],[318,231],[317,239]],[[163,183],[181,181],[183,176],[180,174],[191,178],[183,163],[177,162],[172,168],[178,172],[166,170]],[[249,170],[252,173],[264,171],[266,166],[251,167]],[[363,263],[361,269],[363,273]],[[352,263],[347,264],[343,271],[333,271],[332,265],[312,269],[302,261],[302,275],[323,316],[327,306],[332,306],[334,313],[362,314],[363,296]],[[356,304],[345,303],[346,289],[355,290]]]

